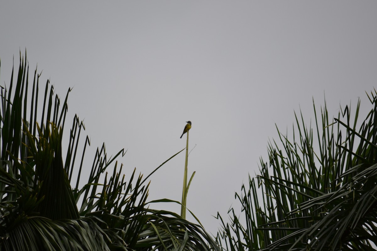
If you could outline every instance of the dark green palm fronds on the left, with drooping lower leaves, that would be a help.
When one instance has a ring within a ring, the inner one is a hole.
[[[26,56],[24,62],[20,53],[15,87],[12,71],[9,88],[1,90],[0,250],[220,250],[201,225],[147,207],[150,175],[143,178],[135,170],[128,179],[121,175],[117,158],[124,150],[108,160],[104,145],[97,149],[87,184],[80,188],[90,145],[86,137],[78,156],[84,124],[74,117],[63,156],[70,90],[61,103],[47,81],[40,108],[39,79],[35,70],[31,87]]]

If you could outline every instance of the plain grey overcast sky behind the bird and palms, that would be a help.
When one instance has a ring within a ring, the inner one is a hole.
[[[215,234],[211,215],[226,219],[267,161],[275,123],[290,132],[301,108],[309,124],[324,94],[330,116],[358,97],[371,108],[376,25],[376,1],[2,1],[0,82],[26,48],[31,74],[38,64],[62,98],[74,87],[66,126],[84,119],[87,172],[105,142],[128,149],[126,174],[147,175],[185,147],[191,120],[188,207]],[[151,176],[150,200],[181,200],[184,161]]]

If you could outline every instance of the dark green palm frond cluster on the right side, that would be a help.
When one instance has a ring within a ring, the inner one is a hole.
[[[326,103],[313,129],[296,116],[293,139],[279,130],[269,164],[236,193],[242,216],[231,208],[217,241],[227,250],[375,250],[377,244],[377,92],[357,129],[349,106],[334,121]],[[280,149],[279,145],[283,148]],[[259,189],[258,189],[259,187]]]

